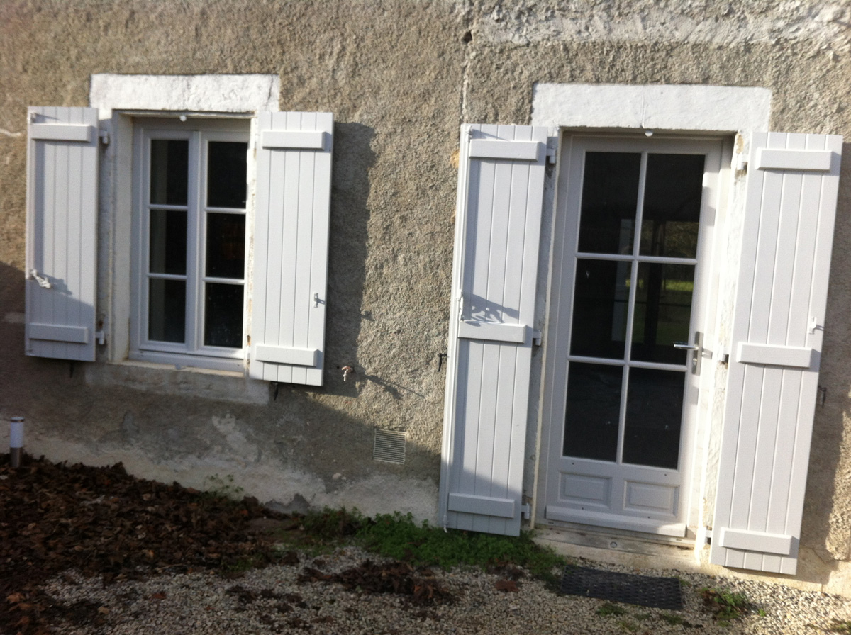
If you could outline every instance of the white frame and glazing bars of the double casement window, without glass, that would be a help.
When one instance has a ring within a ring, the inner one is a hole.
[[[200,117],[170,117],[134,119],[134,231],[132,240],[131,349],[129,359],[196,366],[215,370],[242,371],[246,360],[248,328],[248,258],[245,258],[243,278],[243,337],[236,349],[207,346],[203,343],[205,274],[205,237],[208,208],[204,205],[207,190],[206,157],[210,141],[239,141],[249,144],[250,126],[237,119],[204,119]],[[148,334],[148,254],[149,184],[151,139],[186,139],[189,142],[189,191],[187,192],[187,249],[186,249],[186,339],[184,343],[153,341]],[[248,167],[250,152],[247,152]],[[248,179],[250,182],[253,179]],[[244,253],[248,255],[248,239],[252,228],[248,224],[248,183],[246,208],[226,213],[241,213],[246,217]],[[215,211],[215,210],[212,210]],[[235,281],[229,281],[233,284]]]

